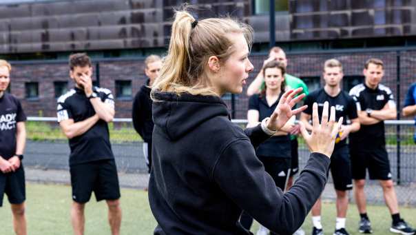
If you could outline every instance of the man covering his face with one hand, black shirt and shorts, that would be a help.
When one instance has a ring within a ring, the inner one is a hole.
[[[120,187],[107,123],[114,118],[110,90],[92,86],[92,63],[84,53],[70,56],[70,76],[75,88],[58,99],[58,121],[70,142],[72,227],[84,232],[84,208],[92,192],[105,200],[112,234],[120,233]]]

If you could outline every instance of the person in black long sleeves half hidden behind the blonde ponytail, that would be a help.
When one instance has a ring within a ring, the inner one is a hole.
[[[154,79],[159,76],[160,67],[162,67],[162,60],[159,56],[152,54],[145,59],[145,74],[149,79],[134,96],[132,110],[134,130],[143,138],[143,154],[149,174],[152,167],[152,132],[154,127],[150,90],[152,90]]]

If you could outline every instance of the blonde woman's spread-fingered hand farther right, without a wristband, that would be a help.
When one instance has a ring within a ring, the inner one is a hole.
[[[335,107],[331,107],[331,115],[328,120],[329,103],[324,103],[324,110],[322,111],[322,120],[319,123],[318,104],[313,103],[312,108],[312,133],[306,131],[304,123],[299,122],[300,132],[303,139],[308,145],[311,152],[319,152],[331,157],[333,148],[335,147],[335,138],[337,132],[340,131],[342,125],[342,117],[335,123]]]

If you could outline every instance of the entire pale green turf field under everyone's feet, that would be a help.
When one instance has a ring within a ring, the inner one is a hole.
[[[72,234],[70,225],[71,188],[67,185],[27,184],[27,218],[28,234]],[[152,234],[156,221],[150,212],[147,192],[143,190],[122,189],[121,206],[123,209],[123,223],[121,234]],[[105,203],[96,203],[93,199],[87,204],[85,234],[110,234],[107,224],[107,209]],[[355,205],[350,205],[347,228],[350,234],[356,232],[358,214]],[[388,227],[391,218],[384,206],[368,207],[368,214],[373,223],[374,234],[391,234]],[[416,225],[416,208],[401,208],[401,214],[410,224]],[[3,200],[0,209],[0,234],[8,235],[12,232],[12,216],[7,198]],[[324,203],[322,207],[322,221],[325,234],[332,234],[335,227],[335,205]],[[253,225],[252,231],[257,231],[258,224]],[[311,233],[311,219],[306,218],[304,226],[306,234]]]

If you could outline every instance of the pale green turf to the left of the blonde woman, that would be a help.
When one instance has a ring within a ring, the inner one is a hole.
[[[72,234],[70,206],[71,187],[66,185],[41,185],[27,183],[26,214],[28,234]],[[151,234],[156,221],[150,212],[147,192],[123,189],[121,191],[123,222],[121,234]],[[12,232],[12,215],[7,197],[0,209],[0,234]],[[85,207],[85,234],[110,234],[107,223],[107,205],[96,203],[92,196]]]

